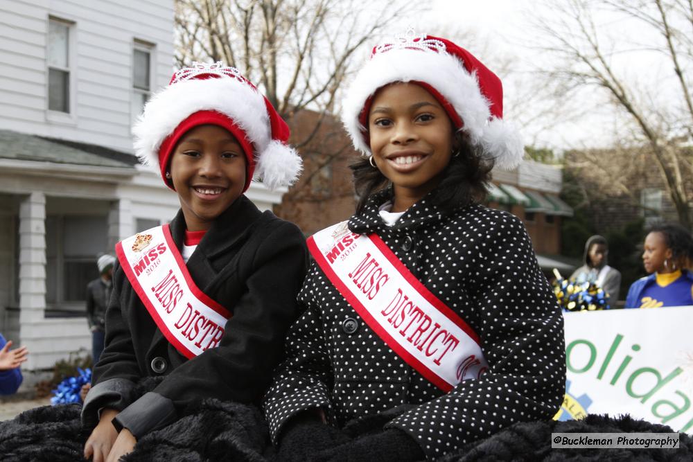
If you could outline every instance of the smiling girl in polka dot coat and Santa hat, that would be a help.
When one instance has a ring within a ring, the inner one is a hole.
[[[452,42],[410,33],[374,48],[343,106],[365,154],[352,167],[360,202],[349,231],[376,235],[422,293],[462,319],[484,367],[457,383],[430,380],[313,252],[304,312],[263,405],[280,459],[436,459],[512,423],[549,420],[565,385],[563,318],[522,222],[478,204],[494,163],[514,168],[523,153],[502,120],[500,80]]]

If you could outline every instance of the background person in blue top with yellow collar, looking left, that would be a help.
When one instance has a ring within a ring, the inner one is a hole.
[[[625,308],[693,305],[693,237],[680,224],[658,224],[645,237],[642,263],[650,275],[628,290]]]

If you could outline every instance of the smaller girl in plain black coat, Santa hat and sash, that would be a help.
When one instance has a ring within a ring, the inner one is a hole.
[[[181,69],[134,134],[181,208],[116,246],[106,348],[82,410],[96,425],[84,450],[95,462],[118,460],[205,398],[256,402],[306,272],[297,226],[243,195],[254,173],[270,188],[290,184],[301,161],[286,123],[236,69]],[[146,377],[157,380],[142,394]]]

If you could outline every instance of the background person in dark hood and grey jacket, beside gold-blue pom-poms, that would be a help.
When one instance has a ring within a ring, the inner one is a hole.
[[[585,264],[575,270],[570,276],[577,283],[595,283],[602,287],[609,296],[613,306],[618,300],[621,287],[621,273],[607,263],[608,244],[603,236],[592,236],[585,242]]]

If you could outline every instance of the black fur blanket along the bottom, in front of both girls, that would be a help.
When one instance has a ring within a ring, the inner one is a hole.
[[[385,413],[347,425],[351,435],[373,431],[392,418]],[[590,415],[567,422],[529,422],[507,427],[489,438],[440,459],[453,461],[693,461],[693,440],[681,434],[671,449],[552,449],[551,433],[669,433],[670,427],[629,416]],[[80,424],[79,405],[30,409],[0,423],[0,460],[83,461],[89,432]],[[141,438],[125,462],[273,461],[267,425],[258,409],[229,402],[207,401],[198,412]]]

